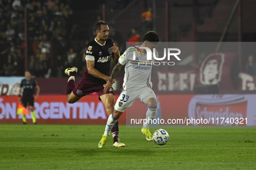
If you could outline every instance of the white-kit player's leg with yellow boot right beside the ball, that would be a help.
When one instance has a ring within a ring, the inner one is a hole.
[[[156,98],[149,98],[147,100],[147,105],[149,109],[146,112],[146,120],[147,122],[143,125],[141,132],[145,134],[147,141],[152,141],[153,137],[149,132],[149,125],[152,123],[152,120],[155,118],[156,109],[157,109],[157,101]]]

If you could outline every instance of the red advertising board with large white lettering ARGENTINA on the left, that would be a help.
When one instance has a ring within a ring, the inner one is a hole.
[[[107,113],[97,95],[82,97],[78,102],[67,103],[66,95],[40,95],[34,103],[38,124],[106,124]],[[115,96],[117,99],[118,96]],[[17,96],[0,96],[0,123],[22,123],[22,115],[17,115]],[[118,120],[125,124],[124,112]],[[31,115],[26,115],[32,119]],[[29,120],[27,120],[29,124]],[[32,120],[30,121],[32,124]]]

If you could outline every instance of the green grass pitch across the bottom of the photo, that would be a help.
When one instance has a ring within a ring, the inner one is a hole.
[[[122,125],[120,139],[125,148],[113,148],[111,136],[105,148],[98,148],[104,127],[0,124],[0,169],[256,168],[256,129],[165,129],[170,140],[158,146],[146,141],[140,129],[126,129]]]

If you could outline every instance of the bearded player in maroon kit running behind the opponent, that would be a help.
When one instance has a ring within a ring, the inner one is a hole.
[[[112,61],[117,64],[120,52],[113,40],[108,38],[107,22],[98,21],[95,25],[95,31],[97,33],[96,38],[89,42],[85,48],[87,68],[80,82],[75,85],[75,74],[78,70],[76,67],[65,70],[65,74],[70,76],[67,84],[67,99],[68,103],[75,103],[81,97],[97,92],[109,116],[114,111],[114,90],[111,87],[104,94],[104,87],[110,76],[110,60],[112,58]],[[112,83],[114,82],[115,80]],[[114,139],[113,147],[125,147],[125,144],[120,143],[118,138],[118,122],[113,126],[111,132]]]

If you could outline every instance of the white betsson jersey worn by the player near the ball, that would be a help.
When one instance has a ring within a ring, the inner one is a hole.
[[[136,46],[139,48],[139,46]],[[147,60],[147,54],[141,53],[135,47],[127,48],[126,51],[119,58],[119,63],[125,66],[125,74],[123,78],[123,89],[126,87],[132,89],[138,87],[149,87],[152,88],[151,82],[151,70],[155,58],[152,52],[152,61]],[[133,55],[135,54],[135,59]],[[158,52],[155,54],[158,58]]]

